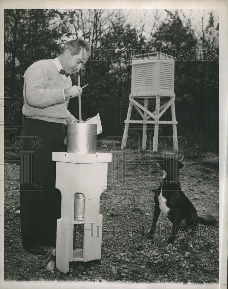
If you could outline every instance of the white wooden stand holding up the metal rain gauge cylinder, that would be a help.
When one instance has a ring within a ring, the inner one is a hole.
[[[57,220],[56,268],[69,271],[71,261],[101,258],[102,215],[100,195],[107,187],[111,153],[76,154],[53,152],[56,161],[56,188],[61,192],[61,218]],[[74,197],[85,199],[84,220],[74,220]],[[74,224],[84,224],[83,248],[73,249]]]

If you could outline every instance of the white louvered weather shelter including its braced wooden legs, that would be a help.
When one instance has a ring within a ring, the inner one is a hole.
[[[144,55],[134,55],[132,58],[131,93],[129,95],[128,113],[124,128],[121,148],[123,149],[128,137],[129,124],[143,125],[142,148],[146,147],[147,124],[154,125],[153,152],[158,150],[159,125],[173,125],[173,148],[178,150],[177,121],[175,116],[175,93],[174,93],[174,63],[173,57],[164,53],[156,52]],[[136,101],[136,99],[144,99]],[[165,103],[160,102],[165,98]],[[154,99],[154,104],[148,103]],[[139,103],[140,102],[140,103]],[[149,111],[152,107],[153,111]],[[154,108],[153,108],[154,107]],[[160,120],[161,116],[171,107],[171,120]],[[141,120],[133,119],[132,108],[136,109]]]

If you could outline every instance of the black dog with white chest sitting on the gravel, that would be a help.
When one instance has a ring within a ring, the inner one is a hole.
[[[183,157],[184,158],[184,157]],[[183,160],[182,158],[182,160]],[[197,215],[197,211],[191,201],[181,190],[179,183],[179,170],[184,165],[176,157],[158,159],[157,165],[162,169],[163,175],[160,186],[154,194],[154,219],[152,227],[146,232],[146,237],[152,239],[155,234],[156,224],[160,212],[165,214],[173,223],[172,235],[168,238],[168,243],[176,240],[177,230],[184,229],[190,236],[195,236],[198,224],[216,225],[215,220],[208,220]]]

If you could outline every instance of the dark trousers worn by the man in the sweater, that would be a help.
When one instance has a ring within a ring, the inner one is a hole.
[[[55,188],[53,151],[65,151],[66,126],[26,118],[21,132],[20,222],[22,245],[55,245],[61,193]]]

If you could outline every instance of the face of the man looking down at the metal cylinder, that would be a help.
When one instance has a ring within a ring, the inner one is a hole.
[[[84,48],[81,49],[79,54],[75,54],[74,56],[70,53],[70,50],[67,49],[64,53],[65,61],[62,65],[63,69],[70,75],[79,72],[88,61],[89,55],[90,53],[88,53]]]

